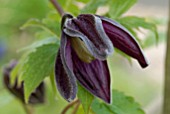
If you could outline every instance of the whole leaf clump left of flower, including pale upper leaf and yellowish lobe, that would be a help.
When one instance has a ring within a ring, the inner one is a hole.
[[[56,38],[47,38],[23,48],[29,51],[22,57],[11,75],[12,83],[17,75],[20,82],[24,81],[26,101],[44,78],[51,75],[58,47]]]

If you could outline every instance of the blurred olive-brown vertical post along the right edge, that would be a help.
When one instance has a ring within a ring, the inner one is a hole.
[[[163,114],[170,114],[170,5],[169,5],[169,22],[168,22],[168,31],[167,31],[166,59],[165,59],[165,86],[164,86]]]

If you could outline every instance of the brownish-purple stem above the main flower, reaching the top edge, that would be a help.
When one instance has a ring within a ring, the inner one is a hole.
[[[50,2],[53,4],[53,6],[56,8],[58,13],[63,16],[65,14],[63,8],[60,6],[60,4],[57,2],[57,0],[50,0]]]

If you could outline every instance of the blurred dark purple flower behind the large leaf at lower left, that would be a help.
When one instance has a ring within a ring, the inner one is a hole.
[[[6,88],[15,95],[18,99],[20,99],[24,103],[24,85],[23,82],[20,86],[17,84],[17,79],[14,85],[10,84],[10,73],[12,69],[16,66],[17,62],[12,61],[6,68],[3,70],[3,79],[4,85]],[[42,82],[36,90],[31,94],[28,103],[29,104],[38,104],[44,102],[45,88],[44,83]]]

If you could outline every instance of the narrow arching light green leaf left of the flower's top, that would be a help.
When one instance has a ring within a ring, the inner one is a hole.
[[[38,19],[30,19],[28,20],[23,26],[20,27],[20,29],[26,29],[27,27],[38,27],[46,32],[50,33],[53,36],[56,36],[55,32],[51,29],[49,29],[45,24],[43,24],[40,20]]]

